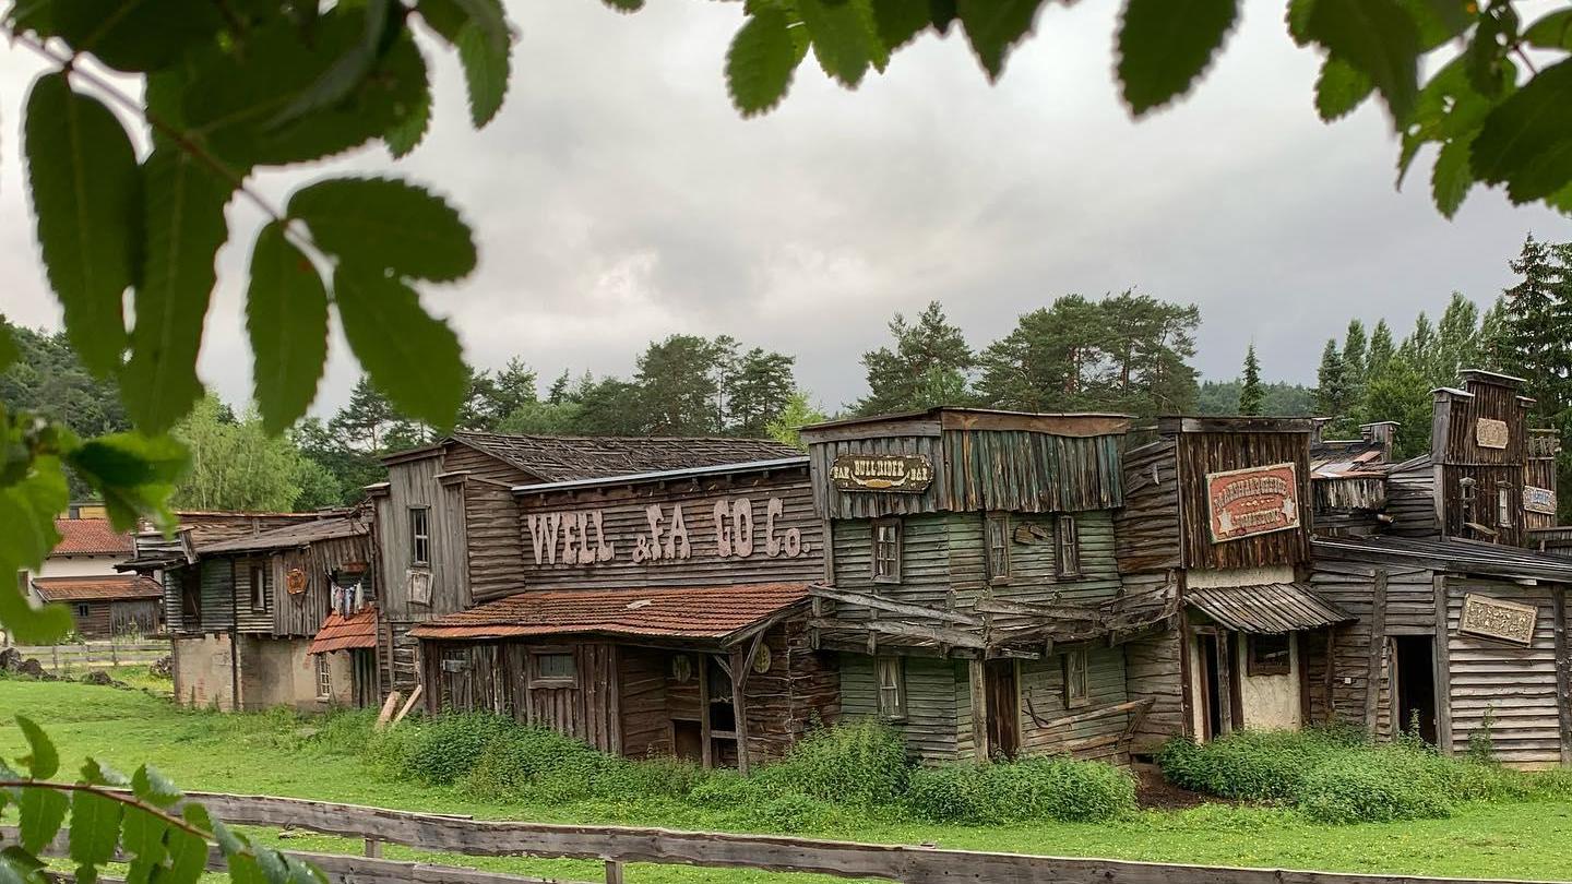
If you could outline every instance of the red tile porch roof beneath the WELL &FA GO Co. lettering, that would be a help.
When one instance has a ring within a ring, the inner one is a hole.
[[[808,584],[528,591],[439,617],[417,639],[596,634],[718,640],[808,598]]]

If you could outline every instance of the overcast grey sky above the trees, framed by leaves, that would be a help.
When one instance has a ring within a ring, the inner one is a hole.
[[[478,231],[481,266],[428,288],[428,308],[451,318],[473,363],[520,355],[542,382],[564,366],[626,374],[674,332],[731,333],[795,354],[800,382],[833,409],[863,393],[858,355],[885,343],[894,311],[943,300],[982,346],[1058,294],[1132,286],[1201,307],[1203,376],[1236,376],[1253,340],[1269,378],[1313,382],[1349,316],[1388,316],[1402,333],[1454,289],[1489,304],[1526,231],[1572,239],[1567,219],[1495,190],[1442,219],[1429,153],[1396,192],[1376,102],[1333,126],[1316,118],[1319,60],[1289,41],[1281,0],[1248,0],[1201,88],[1138,124],[1111,77],[1111,0],[1047,8],[997,87],[959,33],[926,36],[857,93],[810,58],[756,120],[737,116],[722,79],[740,3],[509,11],[522,38],[487,129],[468,127],[445,57],[435,123],[412,157],[366,151],[263,190],[368,170],[446,193]],[[0,310],[57,327],[16,149],[36,71],[0,47]],[[237,203],[230,220],[201,376],[244,400],[258,217]],[[318,411],[357,374],[335,338]]]

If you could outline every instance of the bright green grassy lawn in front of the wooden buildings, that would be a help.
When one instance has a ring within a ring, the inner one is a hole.
[[[151,680],[145,683],[157,684]],[[313,724],[302,725],[281,716],[184,711],[146,691],[68,683],[0,681],[0,753],[6,757],[22,753],[22,738],[11,720],[19,711],[44,725],[66,763],[93,755],[130,771],[138,763],[151,761],[189,790],[470,813],[481,820],[718,827],[703,810],[679,802],[495,804],[475,801],[450,788],[390,783],[362,766],[357,746],[335,744],[332,728],[318,731]],[[1449,820],[1336,827],[1308,823],[1287,810],[1206,805],[1181,812],[1141,812],[1118,823],[1097,824],[959,827],[858,820],[797,834],[1207,865],[1572,879],[1572,802],[1476,804],[1462,807]],[[358,843],[343,838],[296,835],[280,842],[278,835],[264,834],[267,840],[291,849],[358,851]],[[415,857],[412,851],[391,846],[387,856]],[[599,865],[588,862],[511,857],[448,857],[446,862],[580,881],[601,876]],[[657,865],[632,867],[627,878],[640,884],[810,879]]]

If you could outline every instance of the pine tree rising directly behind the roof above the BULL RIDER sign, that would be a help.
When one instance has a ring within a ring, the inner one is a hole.
[[[976,355],[937,300],[915,322],[907,322],[905,316],[896,313],[890,321],[890,335],[894,338],[894,349],[882,346],[863,354],[868,395],[857,403],[858,414],[968,404],[967,387]]]

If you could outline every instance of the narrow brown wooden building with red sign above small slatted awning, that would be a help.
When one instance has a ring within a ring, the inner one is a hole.
[[[1309,650],[1352,618],[1305,580],[1314,422],[1171,417],[1155,429],[1124,459],[1118,562],[1127,591],[1171,596],[1184,617],[1126,651],[1130,697],[1152,703],[1138,750],[1302,727]]]

